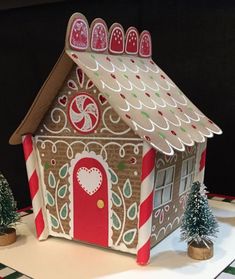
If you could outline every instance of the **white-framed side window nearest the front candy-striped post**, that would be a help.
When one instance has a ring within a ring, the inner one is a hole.
[[[172,200],[175,166],[157,171],[154,185],[154,208]]]

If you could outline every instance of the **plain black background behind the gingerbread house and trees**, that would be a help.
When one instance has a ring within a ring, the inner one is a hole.
[[[102,17],[108,26],[151,32],[154,61],[223,129],[208,142],[205,184],[211,193],[235,196],[235,1],[29,2],[0,4],[0,171],[18,208],[30,205],[27,175],[22,146],[8,140],[58,59],[76,11],[90,23]]]

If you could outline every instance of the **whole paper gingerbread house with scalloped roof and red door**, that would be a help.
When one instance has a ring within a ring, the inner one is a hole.
[[[221,130],[151,59],[148,31],[74,14],[65,50],[10,139],[23,143],[36,231],[149,260],[203,181]]]

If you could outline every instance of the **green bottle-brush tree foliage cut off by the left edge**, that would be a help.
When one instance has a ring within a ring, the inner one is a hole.
[[[0,172],[0,234],[5,234],[7,229],[19,221],[16,202],[12,191],[3,174]]]

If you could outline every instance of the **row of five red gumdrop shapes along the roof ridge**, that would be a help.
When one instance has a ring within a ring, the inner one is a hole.
[[[67,26],[65,48],[76,51],[132,55],[143,58],[152,56],[150,32],[131,26],[126,32],[120,23],[113,23],[108,30],[101,18],[89,23],[81,13],[70,17]]]

